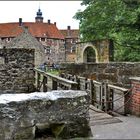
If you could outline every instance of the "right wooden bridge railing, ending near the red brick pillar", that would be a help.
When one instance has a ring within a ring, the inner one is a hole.
[[[86,90],[90,95],[91,104],[97,108],[106,112],[115,111],[121,114],[128,112],[128,103],[126,104],[129,94],[128,89],[71,74],[62,73],[61,76],[76,81],[78,89]]]

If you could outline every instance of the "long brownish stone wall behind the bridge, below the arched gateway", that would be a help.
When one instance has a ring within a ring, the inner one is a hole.
[[[131,62],[63,64],[62,69],[62,72],[126,88],[131,85],[129,77],[140,76],[140,63]]]

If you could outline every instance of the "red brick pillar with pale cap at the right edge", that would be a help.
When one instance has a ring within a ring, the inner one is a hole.
[[[140,77],[132,77],[131,113],[140,116]]]

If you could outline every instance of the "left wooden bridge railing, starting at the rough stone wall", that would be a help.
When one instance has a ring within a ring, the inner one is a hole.
[[[35,88],[37,91],[47,92],[49,90],[76,90],[77,82],[44,72],[34,68]]]

